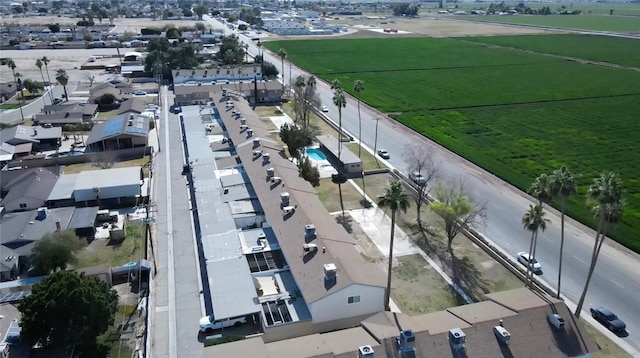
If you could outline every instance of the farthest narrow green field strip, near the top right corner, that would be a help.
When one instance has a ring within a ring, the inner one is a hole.
[[[575,30],[640,32],[640,17],[609,15],[456,16],[460,20],[559,27]]]

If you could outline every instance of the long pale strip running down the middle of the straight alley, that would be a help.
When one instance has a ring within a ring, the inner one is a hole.
[[[166,105],[166,92],[164,87],[161,91],[165,97],[164,118],[165,118],[165,131],[164,131],[164,160],[165,160],[165,180],[167,185],[167,269],[168,269],[168,299],[169,299],[169,357],[178,356],[178,344],[176,339],[176,282],[175,282],[175,267],[173,262],[173,203],[171,202],[171,158],[169,153],[169,107]]]

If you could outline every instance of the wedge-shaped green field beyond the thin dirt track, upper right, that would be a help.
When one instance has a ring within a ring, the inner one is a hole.
[[[640,40],[595,35],[467,37],[465,40],[640,68]]]

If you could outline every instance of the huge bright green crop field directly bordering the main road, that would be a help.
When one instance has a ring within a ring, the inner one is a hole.
[[[576,46],[589,40],[575,37]],[[325,81],[363,80],[361,97],[369,105],[394,113],[398,121],[523,190],[539,174],[569,166],[582,174],[581,195],[570,204],[570,214],[582,222],[593,224],[584,198],[591,180],[603,171],[620,173],[627,206],[612,236],[640,252],[635,240],[640,233],[640,156],[635,150],[640,71],[455,39],[265,45],[286,49],[296,65]],[[624,57],[625,47],[612,45],[611,53]]]

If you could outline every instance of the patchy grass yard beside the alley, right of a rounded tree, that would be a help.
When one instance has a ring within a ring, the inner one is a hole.
[[[98,265],[121,266],[127,262],[138,261],[144,255],[145,226],[139,221],[127,222],[127,237],[121,244],[113,245],[109,240],[94,240],[76,256],[77,268]]]

